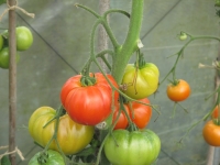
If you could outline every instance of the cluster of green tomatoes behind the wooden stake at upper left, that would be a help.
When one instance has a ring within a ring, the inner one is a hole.
[[[32,32],[26,26],[18,26],[15,29],[15,38],[18,52],[29,50],[33,43]],[[9,68],[9,32],[7,30],[0,35],[0,68]],[[19,59],[20,55],[16,53],[16,63]]]

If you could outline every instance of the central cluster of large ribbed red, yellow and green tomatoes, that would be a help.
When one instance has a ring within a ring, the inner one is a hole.
[[[152,116],[152,107],[146,97],[156,91],[158,76],[157,67],[146,63],[138,69],[135,65],[128,65],[121,84],[123,89],[108,74],[70,77],[61,90],[61,102],[66,113],[59,118],[58,144],[53,141],[48,148],[61,148],[65,155],[80,152],[91,142],[95,127],[112,114],[111,127],[114,128],[103,146],[109,162],[135,164],[139,160],[140,165],[153,163],[158,156],[161,141],[153,131],[145,129]],[[122,95],[119,91],[133,101],[121,103]],[[43,147],[54,135],[56,120],[53,119],[56,112],[51,107],[41,107],[30,118],[29,132]],[[135,130],[128,129],[131,123],[135,125]]]

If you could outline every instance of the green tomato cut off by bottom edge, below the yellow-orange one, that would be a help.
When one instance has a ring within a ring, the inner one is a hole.
[[[65,161],[58,152],[48,150],[46,153],[36,153],[29,165],[65,165]]]

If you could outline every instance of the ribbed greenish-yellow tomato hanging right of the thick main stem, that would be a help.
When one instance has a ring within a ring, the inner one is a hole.
[[[128,64],[122,78],[125,95],[133,99],[143,99],[154,94],[158,87],[160,72],[153,63],[146,63],[144,67],[136,69],[133,64]]]

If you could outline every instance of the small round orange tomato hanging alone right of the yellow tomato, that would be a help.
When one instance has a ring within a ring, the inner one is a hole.
[[[177,85],[169,84],[167,86],[166,94],[172,101],[184,101],[190,95],[190,86],[187,81],[179,79]]]

